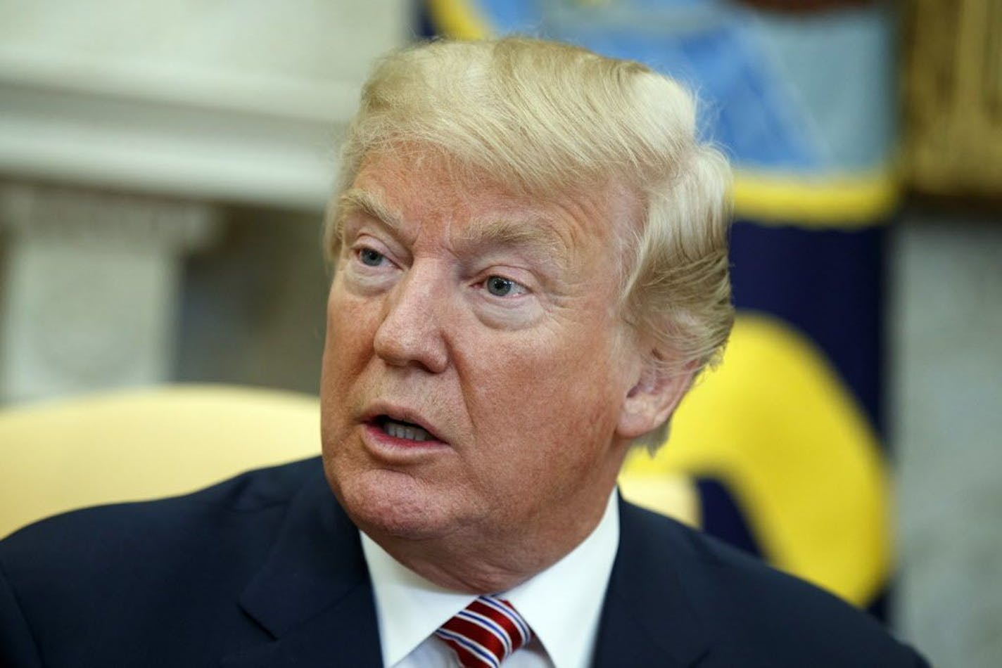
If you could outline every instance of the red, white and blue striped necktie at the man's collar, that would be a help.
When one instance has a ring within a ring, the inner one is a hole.
[[[504,599],[479,596],[435,635],[456,652],[463,668],[498,668],[532,639],[532,629]]]

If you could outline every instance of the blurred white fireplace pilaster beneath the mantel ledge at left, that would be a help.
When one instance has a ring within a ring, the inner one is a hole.
[[[213,236],[195,202],[0,186],[0,403],[162,383],[181,253]]]

